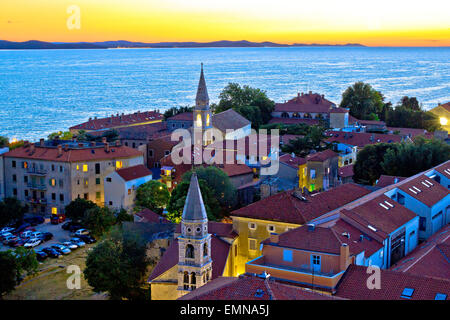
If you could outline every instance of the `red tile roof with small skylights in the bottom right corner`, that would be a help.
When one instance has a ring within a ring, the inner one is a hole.
[[[434,300],[437,293],[450,295],[450,281],[433,279],[404,272],[381,270],[380,289],[367,287],[367,268],[350,265],[336,291],[339,297],[352,300],[408,300],[402,298],[405,288],[413,289],[411,300]]]

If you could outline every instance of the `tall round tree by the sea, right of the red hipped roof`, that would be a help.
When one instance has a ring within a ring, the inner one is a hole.
[[[350,114],[357,119],[374,120],[373,115],[382,114],[383,100],[383,95],[370,84],[356,82],[344,91],[340,106],[350,108]]]

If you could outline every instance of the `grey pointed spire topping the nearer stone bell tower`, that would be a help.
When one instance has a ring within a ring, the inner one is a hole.
[[[184,203],[183,221],[203,221],[208,220],[205,205],[203,204],[202,193],[198,184],[197,174],[192,173],[186,202]]]

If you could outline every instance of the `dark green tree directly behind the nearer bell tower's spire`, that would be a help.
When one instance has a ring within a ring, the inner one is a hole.
[[[224,209],[231,209],[237,203],[237,191],[225,172],[214,166],[195,168],[198,180],[204,180],[213,196]],[[183,181],[190,182],[192,171],[183,175]]]

